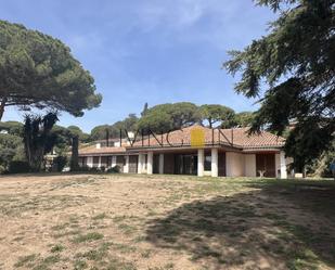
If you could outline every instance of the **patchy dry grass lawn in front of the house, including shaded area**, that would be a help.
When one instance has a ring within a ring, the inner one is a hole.
[[[335,182],[0,177],[0,269],[335,269]]]

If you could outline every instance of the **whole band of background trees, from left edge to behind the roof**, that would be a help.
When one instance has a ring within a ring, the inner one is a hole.
[[[96,140],[118,138],[120,130],[134,131],[150,128],[153,132],[167,132],[199,124],[208,127],[245,127],[254,119],[252,112],[235,113],[232,108],[206,104],[197,106],[190,102],[166,103],[153,107],[144,105],[140,116],[129,114],[113,125],[94,127],[90,133],[77,126],[55,125],[56,115],[43,117],[31,115],[20,121],[0,121],[0,173],[3,171],[24,172],[43,169],[43,156],[53,152],[59,156],[59,169],[69,165],[68,153],[74,138],[79,144]],[[48,129],[48,133],[46,130]],[[125,136],[125,133],[124,133]],[[67,159],[67,160],[66,160]]]

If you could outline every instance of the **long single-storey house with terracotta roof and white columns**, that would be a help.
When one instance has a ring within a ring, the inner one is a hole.
[[[79,150],[79,165],[124,173],[170,173],[211,177],[287,178],[284,139],[248,128],[210,129],[191,126],[164,134],[149,133],[120,140],[113,146]]]

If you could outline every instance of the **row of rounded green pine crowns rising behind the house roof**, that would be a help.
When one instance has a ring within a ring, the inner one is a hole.
[[[235,113],[234,110],[219,105],[205,104],[197,106],[191,102],[165,103],[149,107],[145,103],[141,116],[129,114],[124,120],[113,125],[101,125],[92,129],[91,140],[119,137],[120,129],[133,131],[150,128],[153,132],[167,132],[194,124],[207,127],[247,127],[253,123],[253,112]]]

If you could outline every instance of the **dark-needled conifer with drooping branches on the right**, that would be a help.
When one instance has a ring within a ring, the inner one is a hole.
[[[224,63],[242,73],[235,90],[260,99],[253,131],[262,127],[282,134],[286,153],[304,165],[331,147],[335,133],[335,1],[258,0],[279,14],[269,34],[243,51],[231,51]],[[266,89],[262,89],[266,82]]]

